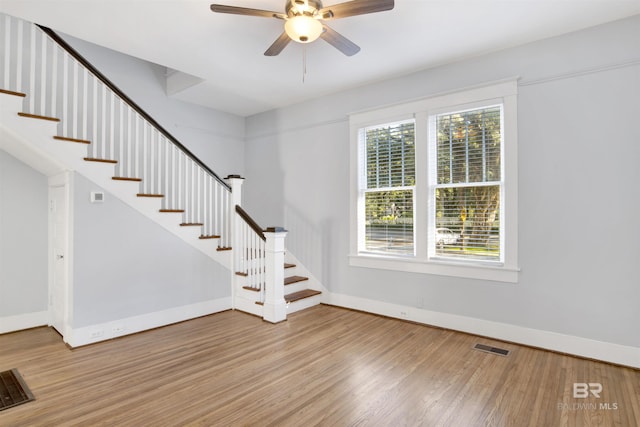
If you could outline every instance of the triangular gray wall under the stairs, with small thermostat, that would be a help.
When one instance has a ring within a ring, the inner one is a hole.
[[[231,295],[230,273],[110,193],[74,175],[73,321],[79,328]]]

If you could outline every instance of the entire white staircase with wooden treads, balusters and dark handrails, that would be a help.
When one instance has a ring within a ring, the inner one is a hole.
[[[0,14],[0,46],[1,149],[85,176],[223,265],[229,308],[279,322],[320,303],[286,230],[240,207],[241,177],[219,178],[51,30]]]

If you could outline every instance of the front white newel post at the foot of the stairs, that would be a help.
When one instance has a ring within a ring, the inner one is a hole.
[[[284,300],[284,238],[287,230],[269,227],[266,237],[266,280],[263,319],[278,323],[287,320],[287,303]]]

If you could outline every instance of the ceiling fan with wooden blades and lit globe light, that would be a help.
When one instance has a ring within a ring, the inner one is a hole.
[[[352,0],[327,7],[322,6],[321,0],[287,0],[285,13],[222,4],[212,4],[211,10],[218,13],[284,20],[284,32],[265,51],[266,56],[278,55],[291,40],[298,43],[311,43],[318,38],[345,55],[352,56],[360,51],[360,47],[320,21],[382,12],[393,9],[393,6],[394,0]]]

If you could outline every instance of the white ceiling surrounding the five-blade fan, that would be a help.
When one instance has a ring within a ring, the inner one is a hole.
[[[283,21],[214,14],[213,2],[284,11],[286,0],[0,0],[0,11],[199,77],[172,96],[241,116],[640,13],[640,0],[396,0],[328,22],[362,50],[306,45],[303,82],[303,45],[263,55]]]

